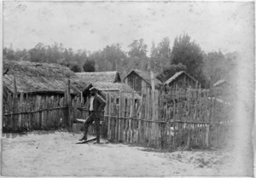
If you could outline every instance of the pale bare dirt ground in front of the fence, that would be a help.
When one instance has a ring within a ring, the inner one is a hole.
[[[80,136],[58,131],[3,135],[2,175],[247,175],[251,171],[236,169],[230,152],[148,152],[124,144],[76,145]]]

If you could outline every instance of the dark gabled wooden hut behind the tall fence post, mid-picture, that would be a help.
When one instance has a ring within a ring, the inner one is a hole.
[[[151,89],[150,72],[143,72],[134,70],[131,71],[125,78],[124,83],[128,84],[132,89],[136,90],[139,95],[142,94],[143,89]],[[162,83],[159,79],[154,78],[154,89],[160,90]]]

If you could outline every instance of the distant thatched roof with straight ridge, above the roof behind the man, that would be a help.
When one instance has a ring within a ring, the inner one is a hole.
[[[119,83],[121,78],[119,72],[78,72],[79,78],[84,79],[86,83],[106,82]]]

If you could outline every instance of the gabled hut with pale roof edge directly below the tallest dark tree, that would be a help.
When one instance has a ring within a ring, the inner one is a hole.
[[[196,81],[195,78],[191,77],[187,72],[184,71],[175,73],[171,78],[166,80],[164,84],[166,90],[201,88],[201,83]]]

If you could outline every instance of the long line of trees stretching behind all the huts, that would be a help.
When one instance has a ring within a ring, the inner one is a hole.
[[[128,51],[124,51],[119,43],[114,43],[90,52],[86,49],[67,49],[61,43],[38,43],[32,49],[22,50],[14,50],[10,45],[3,48],[3,60],[57,63],[69,67],[73,72],[118,71],[123,78],[131,70],[151,70],[163,82],[175,72],[186,71],[206,88],[236,73],[236,53],[204,53],[188,34],[177,36],[172,48],[168,37],[157,44],[152,42],[150,54],[143,38],[133,40],[128,48]]]

